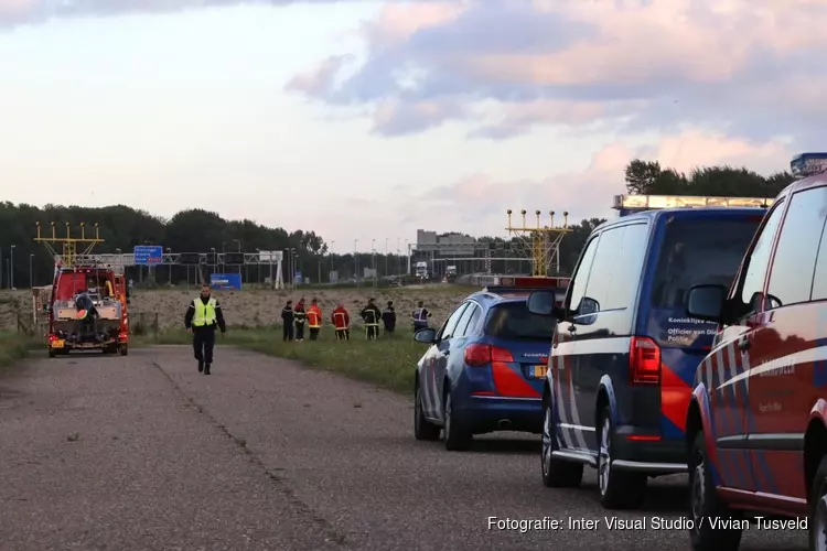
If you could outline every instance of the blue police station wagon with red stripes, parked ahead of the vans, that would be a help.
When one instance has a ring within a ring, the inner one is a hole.
[[[568,278],[501,278],[500,285],[472,294],[442,327],[420,329],[429,344],[417,364],[417,440],[438,440],[447,450],[466,450],[474,434],[543,430],[543,385],[554,323],[534,315],[531,289],[562,301]]]

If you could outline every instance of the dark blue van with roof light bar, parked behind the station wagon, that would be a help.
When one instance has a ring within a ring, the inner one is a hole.
[[[557,318],[543,392],[543,482],[579,486],[583,466],[594,467],[608,509],[637,508],[649,477],[686,472],[692,377],[716,332],[686,316],[686,294],[731,284],[772,202],[630,197],[636,207],[615,203],[622,216],[592,231],[562,305],[545,291],[528,299],[530,312]],[[689,205],[663,208],[681,199]]]

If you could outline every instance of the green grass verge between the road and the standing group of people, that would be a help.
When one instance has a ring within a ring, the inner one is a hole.
[[[323,327],[319,341],[284,343],[281,327],[234,328],[218,335],[216,345],[233,345],[300,361],[307,366],[344,375],[352,379],[373,382],[400,393],[414,391],[414,368],[427,347],[414,341],[412,333],[397,328],[393,337],[382,335],[377,341],[365,339],[364,328],[351,329],[350,342],[335,339],[333,329]],[[157,336],[132,337],[132,345],[190,344],[192,335],[184,331],[169,331]]]

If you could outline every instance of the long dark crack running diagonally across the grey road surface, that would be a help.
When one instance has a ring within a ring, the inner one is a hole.
[[[281,468],[268,468],[267,465],[265,465],[265,462],[261,461],[261,457],[259,457],[256,453],[253,452],[249,447],[247,447],[247,441],[240,436],[236,436],[232,432],[229,432],[229,429],[227,429],[221,421],[218,421],[212,413],[210,413],[202,404],[195,401],[195,399],[191,396],[189,396],[184,390],[181,388],[181,386],[175,382],[175,380],[168,374],[160,364],[157,361],[152,361],[152,365],[163,375],[163,377],[169,381],[169,383],[172,386],[172,388],[178,392],[186,402],[187,406],[195,408],[195,410],[207,418],[210,423],[215,426],[218,431],[222,432],[226,437],[233,441],[233,443],[241,451],[241,453],[245,454],[247,460],[250,462],[250,464],[258,467],[260,471],[265,473],[265,475],[270,479],[273,487],[287,499],[288,504],[290,504],[300,515],[304,516],[305,518],[309,518],[313,523],[315,523],[324,533],[325,539],[329,541],[335,543],[336,545],[342,547],[350,547],[347,542],[345,541],[346,537],[344,533],[336,530],[329,521],[325,519],[322,515],[313,510],[311,506],[309,506],[307,503],[304,503],[293,490],[293,488],[290,487],[288,480],[279,475],[277,471],[283,471]]]

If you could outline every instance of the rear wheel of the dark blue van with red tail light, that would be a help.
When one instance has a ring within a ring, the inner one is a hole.
[[[614,428],[606,407],[601,414],[600,453],[598,454],[598,486],[600,504],[605,509],[638,509],[646,499],[646,475],[612,468]]]

